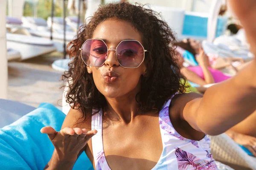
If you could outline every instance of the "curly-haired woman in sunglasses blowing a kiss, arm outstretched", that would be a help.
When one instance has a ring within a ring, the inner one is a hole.
[[[241,20],[255,16],[254,8],[243,13],[254,0],[232,3]],[[244,27],[256,37],[253,21]],[[169,48],[174,41],[150,9],[99,8],[71,42],[74,59],[64,77],[72,79],[73,108],[59,132],[41,129],[55,146],[46,169],[72,169],[84,151],[96,170],[216,169],[205,134],[223,133],[256,109],[256,61],[204,97],[185,94]]]

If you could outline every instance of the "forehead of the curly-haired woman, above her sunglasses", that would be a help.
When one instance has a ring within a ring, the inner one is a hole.
[[[142,42],[142,36],[131,23],[116,19],[109,19],[100,23],[93,31],[92,38],[104,40],[106,44],[116,45],[122,40]]]

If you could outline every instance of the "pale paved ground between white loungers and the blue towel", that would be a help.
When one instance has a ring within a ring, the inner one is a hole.
[[[42,102],[49,102],[61,109],[62,72],[52,69],[54,60],[62,57],[61,53],[52,53],[22,62],[8,63],[8,99],[38,107]]]

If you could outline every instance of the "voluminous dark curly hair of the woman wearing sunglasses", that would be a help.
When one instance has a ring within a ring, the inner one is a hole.
[[[68,80],[67,103],[74,109],[79,109],[84,120],[92,115],[92,109],[105,111],[106,99],[98,91],[81,59],[79,48],[85,40],[92,38],[93,30],[104,20],[115,18],[133,24],[143,38],[147,73],[141,77],[141,90],[136,99],[142,112],[161,110],[164,102],[176,92],[185,92],[186,87],[180,82],[179,67],[173,56],[175,49],[170,48],[175,42],[175,35],[167,23],[159,19],[160,14],[140,4],[111,3],[99,6],[90,22],[81,26],[75,40],[68,45],[70,58],[69,70],[62,75],[62,80]],[[72,80],[69,81],[69,80]]]

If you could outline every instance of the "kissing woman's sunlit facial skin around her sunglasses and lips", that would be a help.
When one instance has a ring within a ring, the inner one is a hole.
[[[118,24],[117,24],[118,22]],[[122,25],[125,29],[113,27]],[[110,36],[111,35],[111,36]],[[142,38],[134,27],[125,21],[107,20],[99,24],[93,33],[93,39],[104,40],[109,49],[116,49],[122,40],[137,40],[142,42]],[[116,60],[115,51],[108,52],[108,58],[101,67],[87,66],[87,71],[93,74],[93,80],[97,89],[106,97],[107,100],[127,100],[134,101],[132,98],[140,91],[140,77],[146,73],[145,64],[142,63],[138,68],[123,68]],[[108,83],[103,78],[107,71],[114,71],[118,77],[113,83]]]

